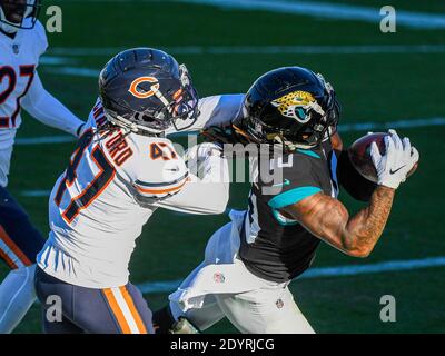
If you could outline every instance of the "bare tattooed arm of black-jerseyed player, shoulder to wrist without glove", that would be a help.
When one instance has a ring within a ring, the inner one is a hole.
[[[324,194],[316,194],[285,207],[283,212],[298,220],[312,234],[345,254],[367,257],[388,220],[395,189],[378,186],[369,205],[349,217],[346,207]]]

